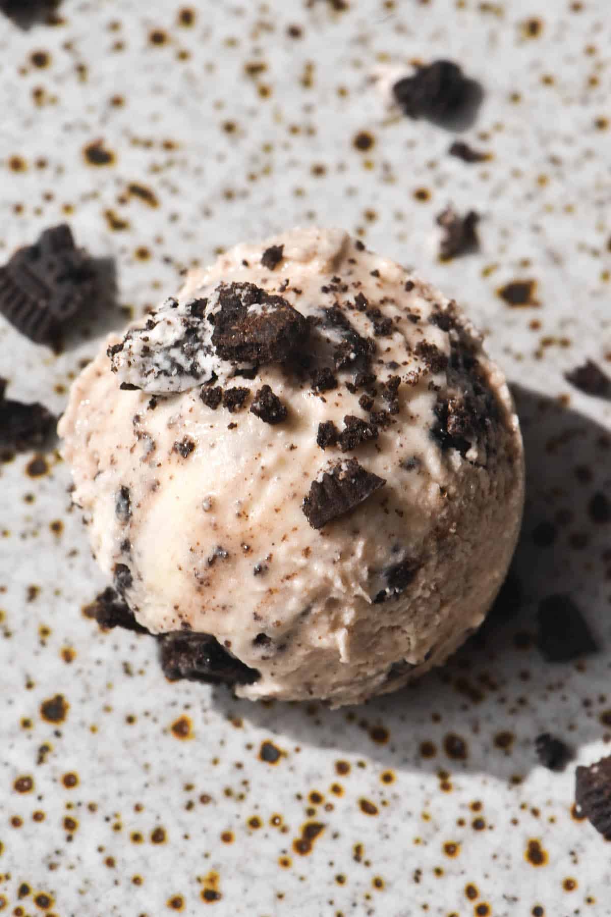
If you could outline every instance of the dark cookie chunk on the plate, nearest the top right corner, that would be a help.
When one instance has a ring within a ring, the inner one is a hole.
[[[453,61],[433,61],[395,83],[392,92],[409,117],[440,120],[454,115],[467,102],[469,81]]]

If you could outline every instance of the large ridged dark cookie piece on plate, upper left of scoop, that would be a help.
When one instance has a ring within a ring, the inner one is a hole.
[[[35,343],[54,343],[91,304],[94,287],[92,261],[64,223],[45,229],[0,268],[0,313]]]

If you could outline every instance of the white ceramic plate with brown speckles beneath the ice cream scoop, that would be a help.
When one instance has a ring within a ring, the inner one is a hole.
[[[572,813],[575,764],[611,739],[611,525],[592,515],[611,410],[563,377],[611,359],[610,22],[606,0],[64,0],[50,23],[0,19],[3,256],[68,220],[140,313],[242,238],[344,226],[485,327],[529,466],[521,601],[413,689],[331,713],[170,684],[152,640],[101,633],[68,470],[6,461],[0,911],[611,914],[611,848]],[[371,81],[440,56],[483,88],[462,126],[480,164]],[[442,263],[449,202],[481,215],[481,246]],[[108,307],[57,356],[2,321],[0,375],[59,413],[124,322]],[[540,656],[555,592],[596,655]],[[573,747],[561,774],[538,764],[544,731]]]

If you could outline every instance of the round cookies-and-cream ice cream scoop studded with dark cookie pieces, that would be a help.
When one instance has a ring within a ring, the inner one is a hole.
[[[93,553],[170,678],[334,705],[481,624],[518,418],[454,302],[340,230],[239,245],[111,337],[60,422]]]

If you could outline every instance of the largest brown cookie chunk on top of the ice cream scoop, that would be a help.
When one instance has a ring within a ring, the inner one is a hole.
[[[221,283],[220,309],[208,315],[213,347],[232,363],[284,363],[304,343],[310,326],[282,296],[254,283]]]

